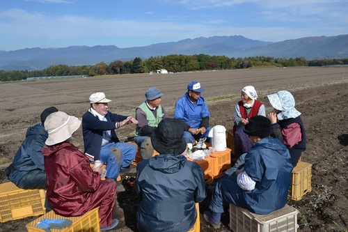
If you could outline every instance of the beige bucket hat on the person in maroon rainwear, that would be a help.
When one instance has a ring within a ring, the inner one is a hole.
[[[45,121],[45,130],[48,133],[45,144],[52,146],[69,139],[80,125],[81,121],[77,117],[69,116],[62,111],[49,114]]]

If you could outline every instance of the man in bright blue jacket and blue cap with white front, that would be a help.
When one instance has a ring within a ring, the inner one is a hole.
[[[187,85],[187,93],[175,104],[174,117],[182,119],[190,127],[184,132],[184,140],[187,144],[204,137],[209,141],[210,112],[204,98],[200,95],[203,91],[205,88],[200,87],[199,82],[190,82]]]

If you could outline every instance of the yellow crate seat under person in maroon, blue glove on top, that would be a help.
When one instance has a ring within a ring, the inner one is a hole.
[[[45,215],[38,217],[37,219],[26,224],[26,229],[28,232],[45,232],[45,230],[40,227],[35,226],[42,219],[70,219],[72,220],[72,225],[65,229],[51,229],[51,232],[99,232],[100,231],[100,218],[99,218],[99,207],[94,208],[86,212],[84,215],[79,217],[63,217],[61,215],[56,215],[53,210],[47,212]]]

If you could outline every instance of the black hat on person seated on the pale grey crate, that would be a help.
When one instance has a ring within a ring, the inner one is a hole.
[[[244,133],[258,137],[269,137],[272,132],[271,121],[265,116],[253,116],[243,129]]]

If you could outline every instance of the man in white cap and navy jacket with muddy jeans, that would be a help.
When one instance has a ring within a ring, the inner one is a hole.
[[[106,164],[106,178],[116,179],[120,172],[129,172],[137,146],[121,143],[115,130],[130,123],[138,123],[132,116],[109,112],[104,93],[90,95],[90,108],[82,117],[85,154],[91,162]],[[118,183],[120,186],[120,183]],[[120,191],[120,190],[118,190]]]

